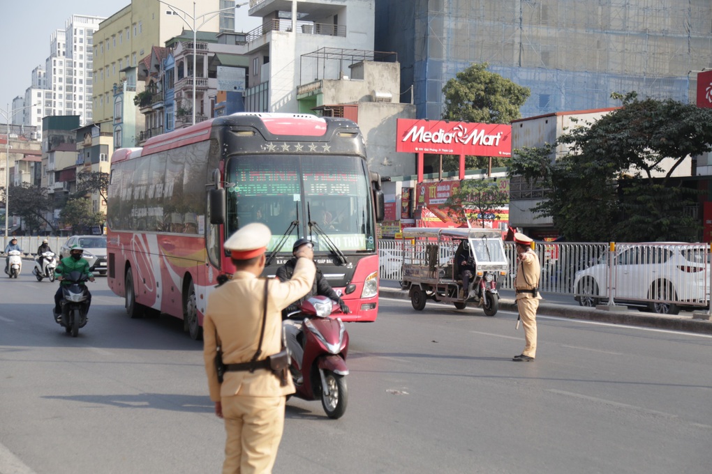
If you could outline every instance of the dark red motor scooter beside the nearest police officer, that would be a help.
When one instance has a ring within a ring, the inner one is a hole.
[[[300,311],[289,318],[304,318],[300,333],[304,348],[301,370],[291,354],[290,372],[296,392],[304,400],[321,399],[327,416],[338,419],[346,411],[348,389],[345,377],[349,335],[340,318],[330,317],[340,311],[338,303],[326,296],[312,296],[301,303]]]

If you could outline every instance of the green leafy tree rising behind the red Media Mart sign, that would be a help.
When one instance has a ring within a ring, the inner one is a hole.
[[[443,87],[444,120],[508,124],[521,117],[519,109],[529,98],[529,88],[517,85],[487,68],[488,63],[474,63],[446,82]],[[501,161],[502,158],[496,160]],[[489,157],[466,156],[465,167],[485,168],[488,161]],[[458,166],[459,157],[443,158],[443,168],[447,171],[455,171]]]

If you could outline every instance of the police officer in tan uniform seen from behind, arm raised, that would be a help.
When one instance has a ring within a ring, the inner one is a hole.
[[[220,384],[214,362],[216,338],[226,365],[250,362],[258,349],[265,294],[265,279],[258,276],[265,266],[270,239],[269,228],[253,222],[225,242],[236,271],[231,280],[210,294],[203,321],[210,399],[215,402],[215,414],[225,420],[227,432],[223,474],[271,473],[284,428],[286,395],[294,393],[291,379],[281,386],[268,368],[226,372]],[[290,281],[267,282],[266,325],[259,360],[280,352],[281,311],[313,285],[316,271],[313,250],[301,249],[296,257]]]

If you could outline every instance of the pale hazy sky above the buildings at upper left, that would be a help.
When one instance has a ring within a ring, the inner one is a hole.
[[[0,58],[4,65],[0,73],[0,109],[11,114],[12,99],[25,96],[32,70],[38,65],[44,67],[49,56],[51,34],[63,30],[70,16],[108,18],[130,3],[131,0],[0,0]],[[239,31],[249,31],[259,24],[258,18],[247,16],[247,11],[246,6],[237,10]],[[241,28],[241,24],[248,27]],[[1,114],[0,123],[6,123]]]

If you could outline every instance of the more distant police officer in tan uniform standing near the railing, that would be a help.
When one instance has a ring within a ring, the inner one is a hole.
[[[517,249],[517,274],[514,278],[517,308],[524,325],[525,346],[515,362],[533,362],[536,357],[536,310],[539,308],[539,277],[541,264],[539,257],[531,248],[532,239],[517,232],[514,235]]]

